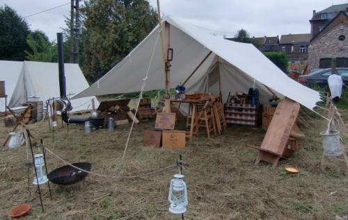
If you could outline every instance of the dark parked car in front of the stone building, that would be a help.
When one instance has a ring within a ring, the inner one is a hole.
[[[336,68],[336,72],[342,76],[343,83],[348,83],[348,68],[338,67]],[[299,76],[299,83],[304,85],[318,84],[319,86],[325,86],[327,85],[327,78],[329,78],[330,75],[331,68],[319,69],[306,76]]]

